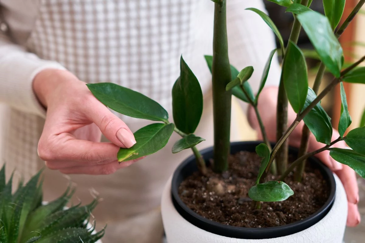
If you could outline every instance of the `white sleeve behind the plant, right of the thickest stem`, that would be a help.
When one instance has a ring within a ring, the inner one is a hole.
[[[262,71],[270,52],[276,48],[274,34],[261,17],[246,8],[257,8],[266,12],[262,0],[229,0],[227,1],[227,35],[230,63],[238,71],[246,66],[253,66],[254,72],[249,83],[254,94],[258,91]],[[280,66],[277,55],[271,62],[265,86],[278,86]],[[241,102],[243,109],[247,103]]]

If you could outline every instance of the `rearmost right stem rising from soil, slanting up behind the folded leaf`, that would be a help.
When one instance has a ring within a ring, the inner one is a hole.
[[[326,66],[324,65],[323,62],[321,62],[319,64],[316,78],[314,79],[313,91],[315,94],[318,93],[319,86],[322,81],[325,70],[326,70]],[[303,129],[302,129],[298,158],[307,153],[309,134],[310,134],[310,130],[308,129],[308,127],[306,125],[304,125]],[[299,164],[297,166],[296,171],[294,172],[294,180],[299,181],[299,182],[301,181],[305,167],[306,167],[306,160],[303,160],[303,162],[301,162],[301,164]]]

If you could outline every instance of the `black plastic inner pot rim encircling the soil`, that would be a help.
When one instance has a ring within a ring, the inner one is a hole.
[[[251,151],[246,149],[248,146],[257,146],[260,144],[260,141],[244,141],[244,142],[232,142],[231,148],[240,147],[238,151]],[[212,153],[213,147],[205,148],[201,150],[201,154],[204,157],[205,161],[208,163],[209,157],[207,154]],[[237,151],[237,152],[238,152]],[[290,153],[296,154],[296,148],[289,148]],[[252,151],[254,152],[254,150]],[[235,152],[233,152],[235,153]],[[315,163],[318,166],[318,169],[322,172],[324,179],[330,185],[330,196],[328,197],[326,203],[314,214],[308,216],[305,219],[300,221],[286,224],[284,226],[275,226],[275,227],[268,227],[268,228],[244,228],[244,227],[235,227],[235,226],[228,226],[225,224],[220,224],[218,222],[214,222],[212,220],[206,219],[203,216],[200,216],[196,212],[192,211],[190,208],[187,207],[180,199],[178,194],[178,187],[181,183],[181,173],[189,164],[194,164],[191,166],[195,166],[195,157],[194,155],[189,156],[185,159],[174,171],[172,182],[171,182],[171,196],[174,207],[178,211],[178,213],[184,217],[185,220],[190,222],[191,224],[195,225],[196,227],[201,228],[202,230],[226,236],[230,238],[238,238],[238,239],[270,239],[270,238],[277,238],[281,236],[287,236],[291,234],[295,234],[297,232],[303,231],[314,224],[318,223],[327,213],[330,211],[333,202],[335,200],[335,192],[336,192],[336,183],[333,176],[333,173],[330,169],[325,166],[322,162],[320,162],[315,157],[310,157],[308,161]],[[197,168],[195,169],[197,171]],[[186,178],[186,176],[185,176]],[[184,178],[184,179],[185,179]]]

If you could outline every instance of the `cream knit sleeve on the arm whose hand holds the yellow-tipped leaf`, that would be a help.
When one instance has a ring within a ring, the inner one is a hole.
[[[42,60],[26,52],[0,31],[0,102],[45,117],[46,111],[35,97],[32,81],[47,68],[65,69],[57,62]]]

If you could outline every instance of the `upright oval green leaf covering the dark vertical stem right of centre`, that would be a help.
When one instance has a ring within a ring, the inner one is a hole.
[[[288,100],[296,113],[304,106],[308,91],[306,58],[300,48],[289,41],[283,66],[283,79]]]

